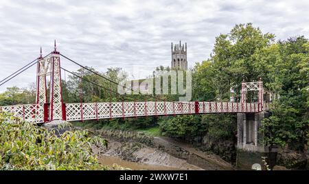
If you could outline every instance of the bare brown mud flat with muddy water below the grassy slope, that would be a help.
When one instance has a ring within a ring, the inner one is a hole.
[[[203,170],[165,153],[135,142],[117,142],[109,140],[108,148],[95,148],[102,164],[113,166],[116,163],[133,170]]]

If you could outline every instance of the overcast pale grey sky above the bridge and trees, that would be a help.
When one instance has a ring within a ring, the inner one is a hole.
[[[171,42],[187,42],[188,66],[207,59],[215,37],[253,23],[277,40],[309,35],[309,1],[0,1],[0,80],[53,49],[105,71],[121,67],[135,79],[170,66]],[[133,72],[133,65],[135,69]],[[77,66],[62,60],[70,70]],[[139,72],[137,71],[139,68]],[[35,82],[35,67],[0,86]]]

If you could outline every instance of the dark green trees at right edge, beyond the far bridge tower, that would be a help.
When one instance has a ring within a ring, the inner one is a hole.
[[[309,54],[303,36],[277,44],[275,60],[269,66],[268,86],[276,92],[271,117],[264,119],[263,143],[304,150],[309,128]],[[278,54],[279,53],[279,54]]]

